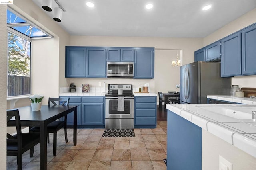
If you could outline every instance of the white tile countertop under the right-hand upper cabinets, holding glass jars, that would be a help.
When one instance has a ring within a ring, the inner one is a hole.
[[[235,97],[235,96],[224,96],[224,95],[207,95],[207,98],[223,100],[223,101],[227,101],[227,102],[256,105],[256,99],[252,99],[252,98],[240,98],[240,97]]]

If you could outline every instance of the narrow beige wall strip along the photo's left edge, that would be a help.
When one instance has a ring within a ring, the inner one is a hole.
[[[7,32],[6,5],[0,5],[0,167],[6,169],[6,94],[7,94]]]

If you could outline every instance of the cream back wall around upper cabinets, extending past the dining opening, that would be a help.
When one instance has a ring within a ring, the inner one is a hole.
[[[133,84],[136,88],[139,86],[139,83],[143,85],[148,82],[151,92],[155,93],[158,91],[176,91],[176,84],[180,82],[180,72],[179,68],[173,68],[171,63],[172,60],[176,60],[177,52],[182,63],[187,64],[194,61],[194,51],[203,46],[201,38],[71,36],[70,40],[71,46],[154,47],[154,79],[66,78],[66,83],[60,84],[60,87],[67,87],[70,85],[70,82],[74,82],[78,87],[81,87],[82,83],[98,87],[98,82],[106,82],[107,84]],[[181,56],[180,52],[182,52]],[[63,78],[60,77],[60,79]]]

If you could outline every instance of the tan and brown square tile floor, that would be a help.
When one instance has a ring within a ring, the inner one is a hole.
[[[65,143],[64,129],[58,131],[57,155],[52,155],[52,135],[48,144],[48,170],[166,170],[167,121],[158,121],[154,129],[134,129],[136,137],[102,137],[104,129],[77,131],[77,145],[73,145],[73,129],[68,129]],[[34,156],[23,154],[23,170],[39,170],[37,145]],[[7,169],[16,170],[16,156],[7,156]]]

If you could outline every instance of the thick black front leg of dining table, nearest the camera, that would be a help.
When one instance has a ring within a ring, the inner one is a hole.
[[[40,170],[47,169],[47,124],[40,123]]]

